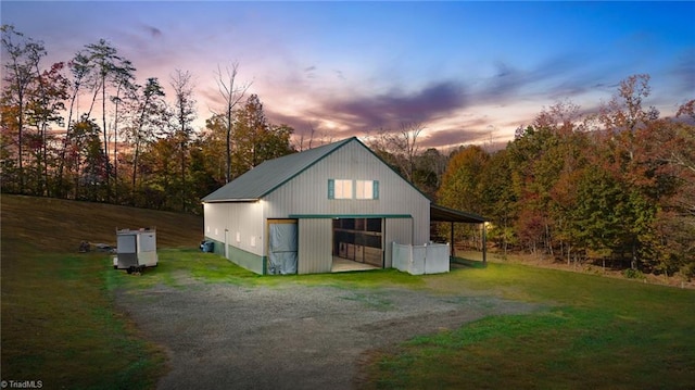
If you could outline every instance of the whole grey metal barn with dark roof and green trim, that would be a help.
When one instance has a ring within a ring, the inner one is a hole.
[[[202,201],[215,253],[261,275],[390,268],[392,243],[429,242],[431,210],[483,222],[431,209],[356,137],[266,161]]]

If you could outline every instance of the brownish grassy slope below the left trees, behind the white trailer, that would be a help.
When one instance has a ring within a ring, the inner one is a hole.
[[[157,247],[195,247],[200,216],[103,203],[3,194],[3,251],[25,242],[45,251],[76,252],[81,241],[115,244],[116,228],[155,227]]]

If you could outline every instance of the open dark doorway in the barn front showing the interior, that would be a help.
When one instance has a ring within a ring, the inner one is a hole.
[[[383,218],[333,219],[333,272],[383,268]]]

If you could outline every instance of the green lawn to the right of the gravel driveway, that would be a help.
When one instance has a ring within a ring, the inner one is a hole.
[[[630,280],[490,264],[437,276],[462,288],[549,310],[488,317],[377,351],[376,389],[692,389],[695,291]]]

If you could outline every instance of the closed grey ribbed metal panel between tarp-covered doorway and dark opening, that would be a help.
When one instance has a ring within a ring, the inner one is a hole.
[[[332,219],[300,219],[298,274],[330,273],[331,243]]]

